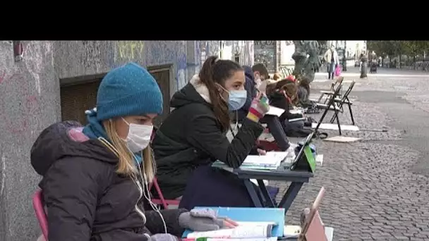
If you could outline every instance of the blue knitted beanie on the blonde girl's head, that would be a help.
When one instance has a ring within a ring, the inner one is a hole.
[[[162,114],[162,93],[155,78],[137,63],[127,63],[104,76],[97,92],[97,120]]]

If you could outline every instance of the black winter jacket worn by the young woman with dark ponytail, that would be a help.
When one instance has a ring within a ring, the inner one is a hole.
[[[241,166],[264,130],[260,123],[245,118],[234,140],[229,142],[212,105],[203,99],[208,97],[207,87],[195,84],[195,78],[174,94],[170,105],[175,109],[152,142],[158,184],[169,199],[183,194],[188,178],[198,166],[216,160],[233,168]]]

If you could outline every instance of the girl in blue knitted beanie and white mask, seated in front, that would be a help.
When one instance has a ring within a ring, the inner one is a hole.
[[[157,82],[127,63],[103,78],[85,128],[66,121],[42,131],[31,163],[43,176],[47,240],[167,241],[179,240],[184,228],[210,228],[201,226],[207,218],[186,209],[143,210],[155,175],[148,147],[152,121],[160,113]]]

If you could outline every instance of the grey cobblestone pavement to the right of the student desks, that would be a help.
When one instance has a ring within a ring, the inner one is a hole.
[[[363,139],[349,144],[315,140],[319,154],[324,154],[323,166],[298,193],[286,222],[299,223],[301,210],[324,186],[320,215],[334,228],[334,240],[429,240],[429,172],[418,164],[423,160],[428,166],[429,75],[410,77],[412,72],[380,69],[380,76],[368,74],[360,80],[357,72],[351,68],[351,76],[345,78],[358,83],[351,92],[356,124],[388,132],[344,131]],[[312,87],[329,87],[328,83],[315,82]],[[329,120],[330,115],[324,122]],[[340,121],[351,123],[348,111]],[[273,184],[281,193],[288,187]]]

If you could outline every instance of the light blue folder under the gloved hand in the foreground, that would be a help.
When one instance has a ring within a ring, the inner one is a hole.
[[[243,207],[208,207],[217,211],[217,215],[241,222],[273,222],[272,237],[283,237],[284,209],[243,208]],[[194,209],[207,209],[207,206],[196,206]],[[185,230],[182,237],[187,237],[192,230]]]

